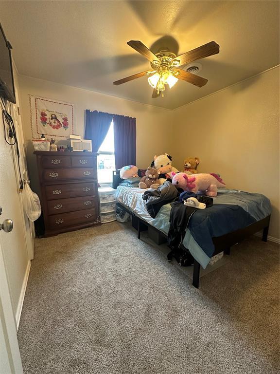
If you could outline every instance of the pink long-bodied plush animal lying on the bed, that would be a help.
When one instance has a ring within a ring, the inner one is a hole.
[[[223,180],[215,173],[210,174],[192,174],[171,173],[172,184],[182,188],[184,191],[206,191],[207,196],[217,196],[217,189],[226,187]]]

